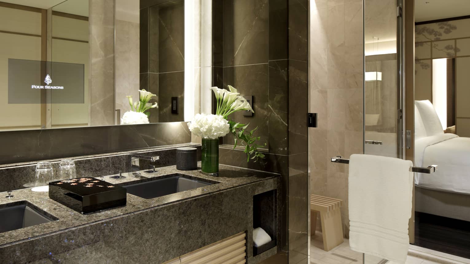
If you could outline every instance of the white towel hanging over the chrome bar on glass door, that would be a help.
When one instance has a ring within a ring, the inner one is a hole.
[[[399,158],[351,155],[348,200],[352,250],[405,263],[412,166],[411,161]]]

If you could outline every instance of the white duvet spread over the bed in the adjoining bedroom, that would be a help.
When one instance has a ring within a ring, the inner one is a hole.
[[[454,134],[426,136],[415,141],[415,150],[415,166],[438,165],[435,173],[416,173],[416,185],[470,194],[469,137]]]

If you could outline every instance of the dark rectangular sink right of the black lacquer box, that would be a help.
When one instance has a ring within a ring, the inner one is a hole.
[[[169,177],[163,179],[134,183],[123,187],[127,189],[127,193],[145,199],[151,199],[211,184],[213,183],[185,178],[183,174],[171,174]]]

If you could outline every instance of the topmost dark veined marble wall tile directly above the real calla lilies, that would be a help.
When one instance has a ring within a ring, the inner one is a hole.
[[[226,0],[223,13],[224,67],[267,62],[268,0]]]

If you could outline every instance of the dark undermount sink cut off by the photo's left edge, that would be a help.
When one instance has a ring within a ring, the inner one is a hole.
[[[40,212],[26,201],[0,204],[0,233],[55,220],[57,218]]]

